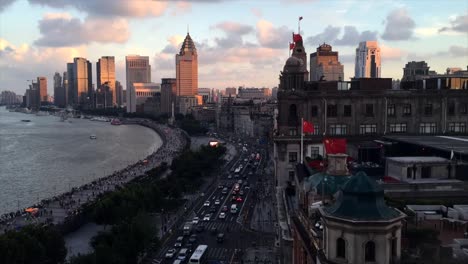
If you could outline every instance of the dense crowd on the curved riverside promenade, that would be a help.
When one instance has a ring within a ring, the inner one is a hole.
[[[162,163],[170,164],[172,159],[187,146],[187,136],[181,129],[146,119],[130,120],[129,123],[137,123],[155,130],[163,141],[162,146],[145,159],[115,171],[107,177],[94,180],[81,187],[72,188],[69,192],[61,195],[44,199],[31,207],[1,215],[0,234],[30,223],[62,224],[80,214],[82,205],[95,200],[100,194],[122,187],[127,182],[144,175],[148,170]]]

